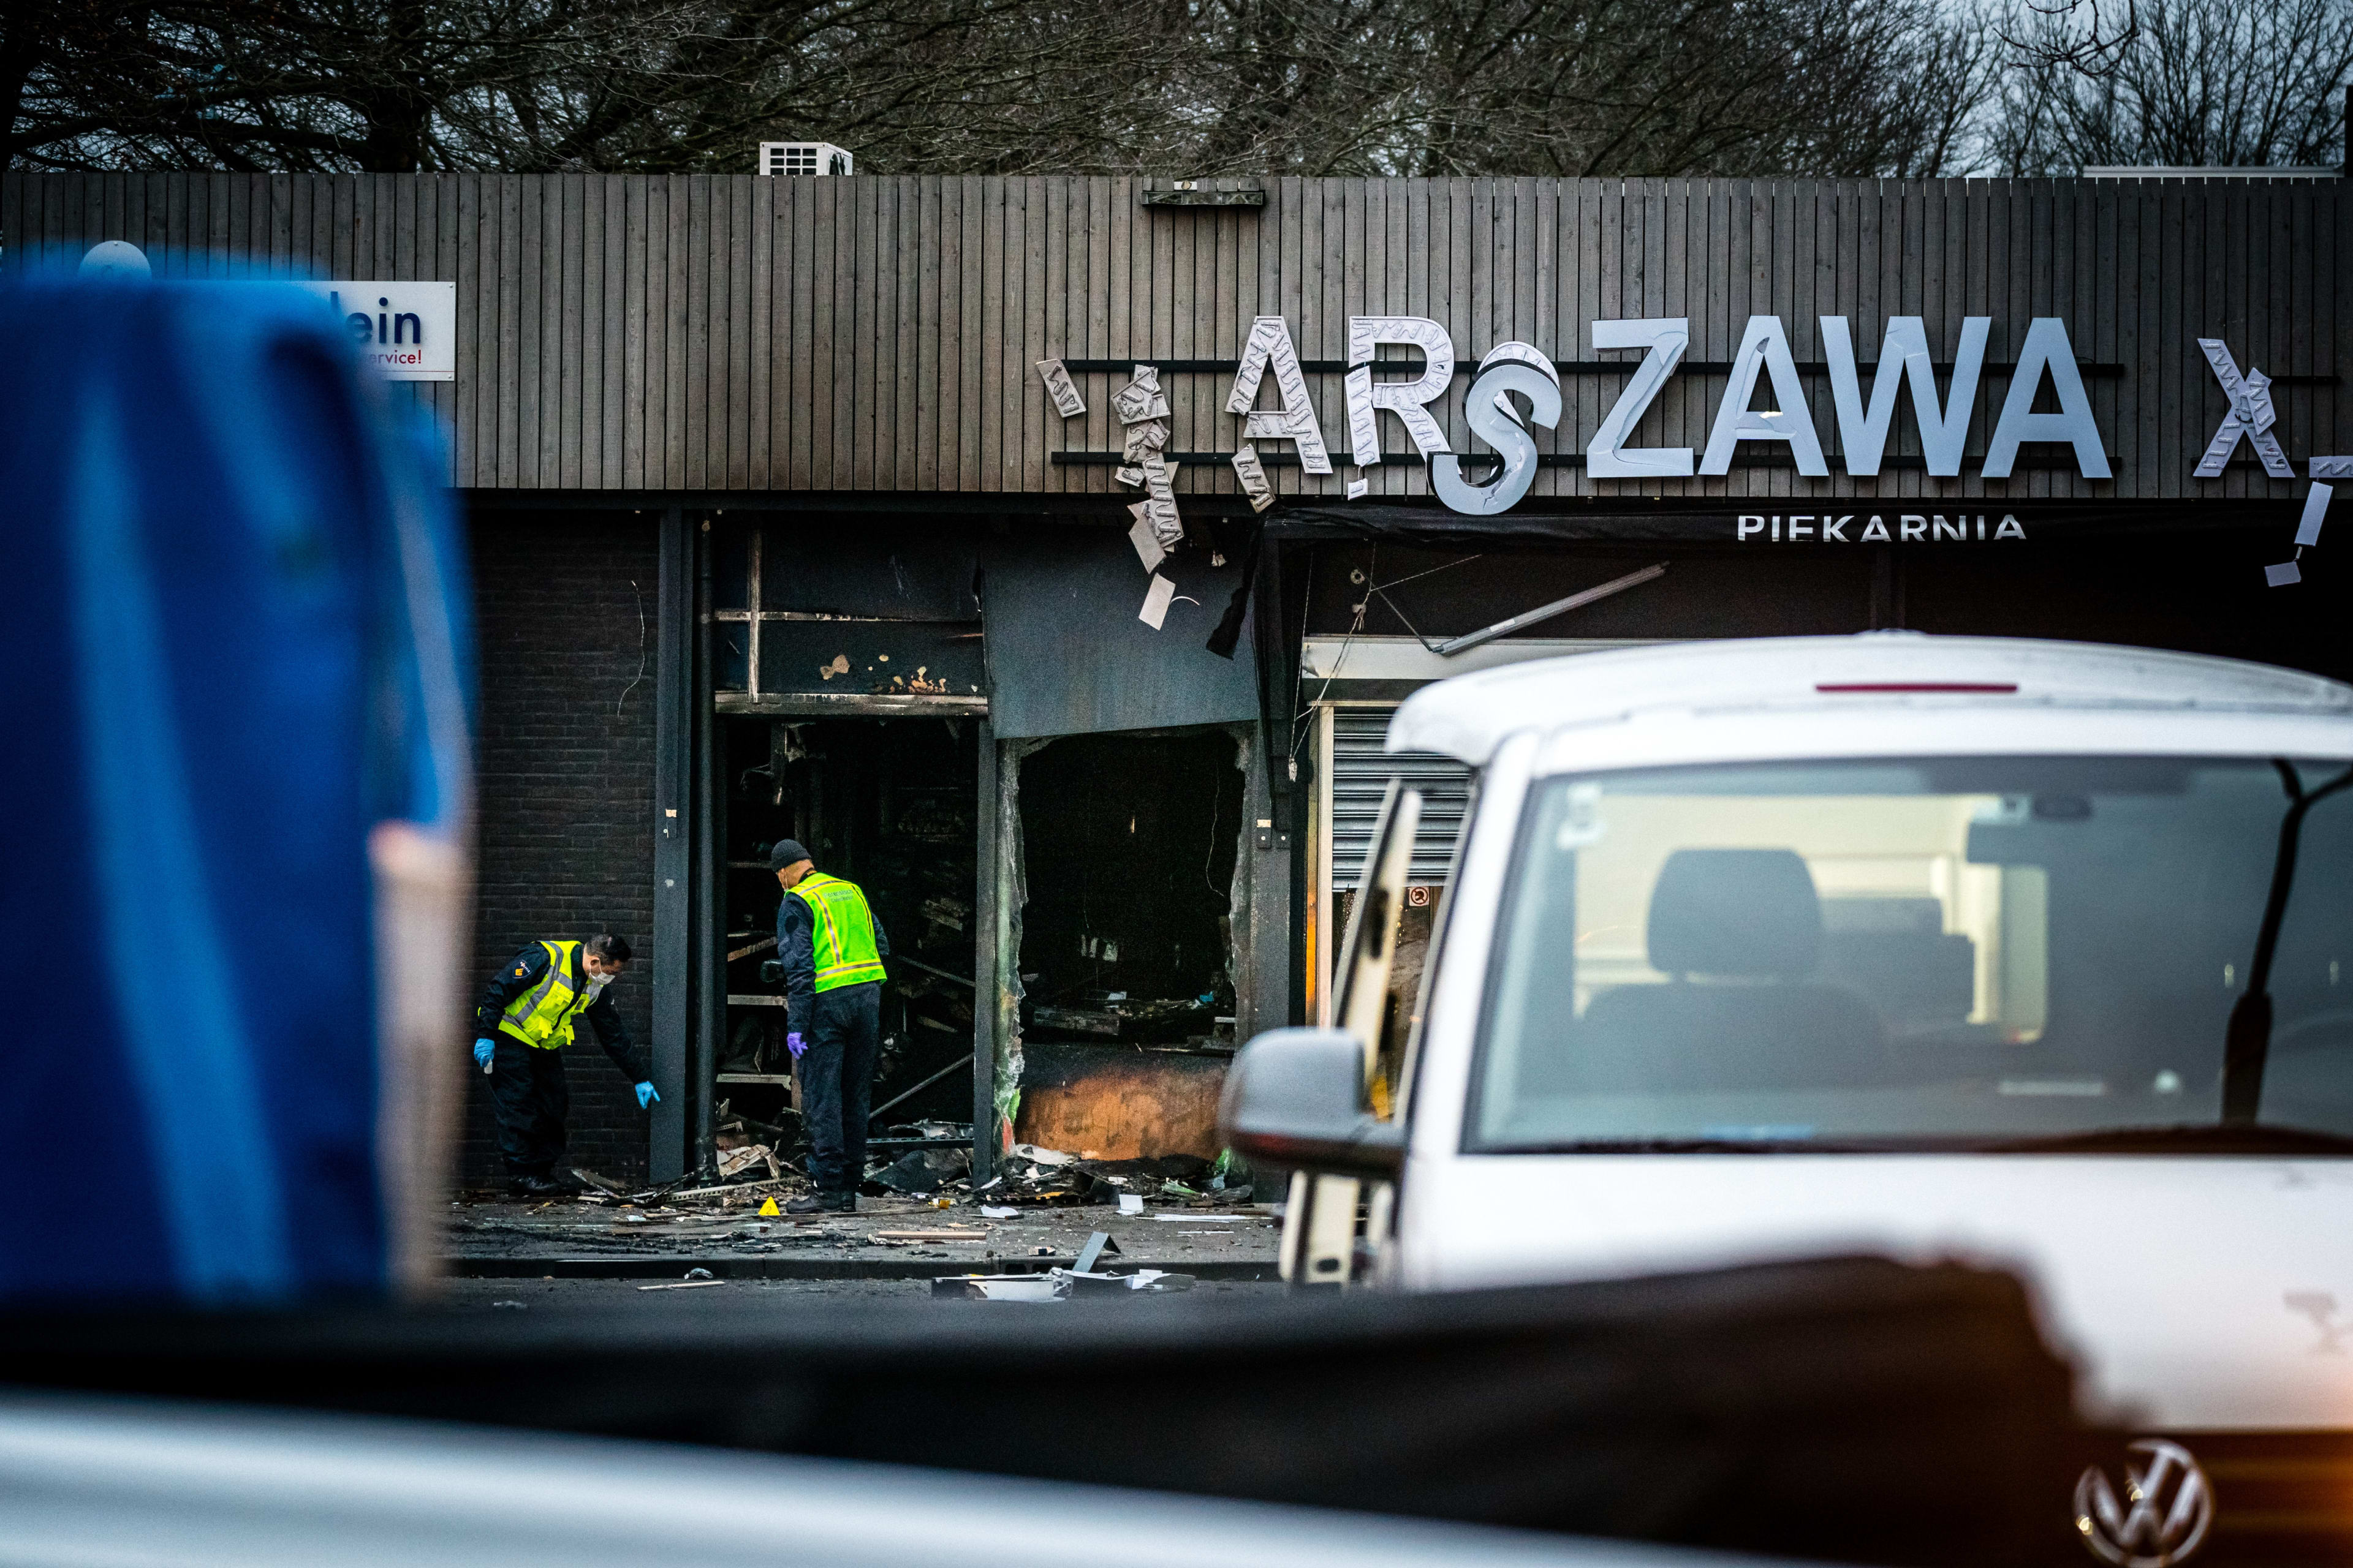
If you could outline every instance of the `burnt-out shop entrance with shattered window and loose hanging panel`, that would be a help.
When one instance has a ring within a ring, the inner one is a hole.
[[[1228,658],[1136,621],[1129,541],[1068,524],[734,510],[708,550],[718,1159],[791,1140],[786,1013],[762,961],[767,853],[795,839],[889,931],[882,1185],[932,1192],[974,1143],[984,1164],[1033,1147],[1221,1180],[1217,1095],[1259,1001],[1247,639]],[[1240,571],[1212,550],[1169,581],[1231,599]],[[1031,1185],[1089,1190],[1061,1161],[1019,1164],[1052,1173]]]

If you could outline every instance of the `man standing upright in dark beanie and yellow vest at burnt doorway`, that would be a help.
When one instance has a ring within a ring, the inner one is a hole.
[[[784,903],[776,905],[784,1044],[800,1070],[800,1121],[816,1178],[816,1192],[784,1211],[849,1213],[866,1178],[866,1114],[889,938],[866,893],[816,870],[809,851],[793,839],[779,842],[767,863],[784,886]]]

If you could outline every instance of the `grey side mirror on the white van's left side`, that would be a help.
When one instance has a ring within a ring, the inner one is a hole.
[[[1252,1164],[1395,1180],[1405,1126],[1365,1105],[1365,1048],[1346,1030],[1268,1030],[1233,1058],[1217,1107],[1226,1145]]]

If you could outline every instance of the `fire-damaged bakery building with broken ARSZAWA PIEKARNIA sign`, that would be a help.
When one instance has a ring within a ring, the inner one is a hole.
[[[1398,773],[1409,1006],[1433,679],[1866,630],[2353,672],[2341,181],[9,174],[0,221],[447,284],[393,395],[475,538],[475,966],[638,947],[664,1098],[576,1072],[614,1173],[793,1145],[776,839],[889,931],[894,1182],[1198,1185]]]

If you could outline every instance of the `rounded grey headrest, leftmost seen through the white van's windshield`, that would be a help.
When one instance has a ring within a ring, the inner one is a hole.
[[[1821,898],[1793,849],[1678,849],[1649,891],[1649,966],[1798,980],[1821,957]]]

